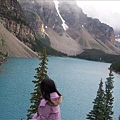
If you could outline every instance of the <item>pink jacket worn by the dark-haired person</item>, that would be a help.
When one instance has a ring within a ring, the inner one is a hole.
[[[59,96],[56,92],[53,92],[50,94],[50,98],[51,101],[55,101],[59,98]],[[46,103],[45,99],[41,100],[38,107],[39,116],[37,116],[36,113],[31,120],[61,120],[59,105],[50,106]]]

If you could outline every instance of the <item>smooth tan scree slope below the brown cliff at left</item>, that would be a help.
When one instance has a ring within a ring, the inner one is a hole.
[[[17,39],[0,23],[0,51],[11,57],[37,57],[29,47]]]

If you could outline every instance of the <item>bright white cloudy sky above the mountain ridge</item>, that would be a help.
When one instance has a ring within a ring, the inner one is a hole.
[[[98,18],[114,29],[120,29],[120,1],[76,1],[88,17]]]

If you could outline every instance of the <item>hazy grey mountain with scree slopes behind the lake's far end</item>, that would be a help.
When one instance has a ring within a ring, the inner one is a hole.
[[[41,21],[43,22],[44,25],[44,30],[47,33],[48,37],[50,38],[50,44],[52,45],[51,47],[53,49],[63,52],[67,55],[73,55],[73,53],[70,54],[70,52],[66,52],[65,49],[67,49],[67,46],[66,48],[63,48],[65,51],[61,51],[62,48],[58,49],[58,47],[56,47],[60,45],[59,44],[59,42],[61,41],[60,39],[64,37],[64,35],[66,35],[72,38],[74,41],[76,41],[78,46],[80,46],[77,49],[77,51],[80,52],[77,53],[75,51],[75,48],[72,47],[75,53],[74,55],[80,54],[82,51],[84,51],[84,49],[94,48],[103,50],[104,52],[109,54],[120,54],[120,50],[118,48],[114,47],[113,49],[109,44],[111,43],[114,46],[115,36],[113,28],[107,24],[101,23],[98,19],[87,17],[87,15],[83,13],[82,9],[79,8],[75,2],[73,2],[74,3],[73,5],[68,1],[67,2],[59,1],[58,8],[60,15],[65,20],[65,24],[68,26],[67,30],[64,30],[62,26],[62,20],[57,13],[54,2],[52,1],[44,2],[43,5],[43,1],[38,2],[37,0],[34,0],[34,3],[31,3],[31,1],[29,1],[29,3],[23,0],[19,1],[22,1],[20,2],[20,4],[22,5],[23,10],[27,9],[29,11],[36,12],[40,16]],[[56,34],[58,34],[59,36],[59,38],[57,37],[56,40],[59,42],[56,43],[55,47],[53,46],[54,44],[53,42],[56,42],[55,40],[53,40],[55,37],[49,31],[50,28],[52,31],[55,31]],[[89,38],[91,39],[86,37],[86,34],[87,35],[89,34]],[[68,37],[66,38],[64,37],[64,40],[67,41]],[[86,44],[86,47],[82,46],[81,40],[84,42],[84,45]],[[67,45],[67,42],[64,44]],[[93,44],[95,44],[95,46]]]

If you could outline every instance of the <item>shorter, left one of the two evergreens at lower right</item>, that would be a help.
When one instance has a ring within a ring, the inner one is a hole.
[[[97,91],[97,96],[93,102],[93,110],[87,114],[87,118],[89,120],[104,120],[104,90],[103,90],[103,82],[100,81],[99,88]]]

